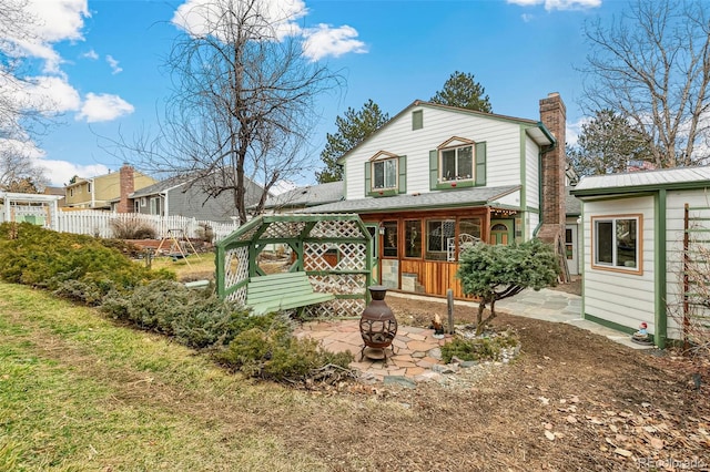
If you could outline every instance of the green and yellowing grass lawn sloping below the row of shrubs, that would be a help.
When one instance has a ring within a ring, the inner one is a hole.
[[[325,470],[258,428],[307,397],[0,284],[0,470]]]

